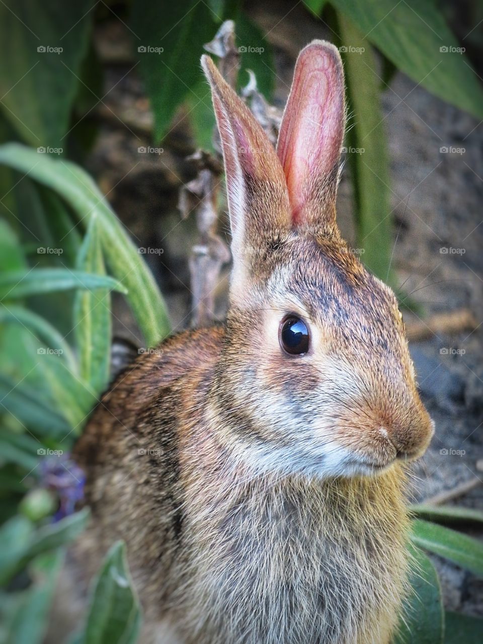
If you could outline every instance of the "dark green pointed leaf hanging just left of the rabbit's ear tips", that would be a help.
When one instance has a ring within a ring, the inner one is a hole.
[[[203,45],[216,32],[216,17],[203,2],[137,0],[131,26],[137,35],[140,73],[155,116],[154,138],[159,141],[188,96],[194,94],[210,103],[206,89],[198,90],[200,57]]]

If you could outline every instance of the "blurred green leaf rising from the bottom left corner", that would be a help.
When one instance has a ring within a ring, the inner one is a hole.
[[[64,551],[39,556],[32,564],[34,584],[28,591],[15,593],[14,610],[8,616],[10,644],[41,644],[48,627],[55,584],[64,561]]]

